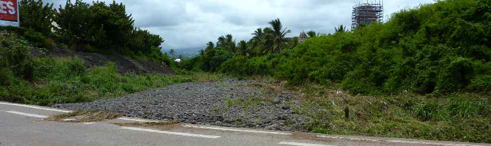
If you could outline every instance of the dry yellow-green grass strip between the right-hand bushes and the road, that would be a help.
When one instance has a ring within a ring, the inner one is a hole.
[[[309,115],[304,128],[312,132],[491,142],[491,96],[487,93],[340,96],[337,89],[312,83],[295,90],[305,97],[294,111]],[[350,107],[348,119],[344,117],[345,106]]]

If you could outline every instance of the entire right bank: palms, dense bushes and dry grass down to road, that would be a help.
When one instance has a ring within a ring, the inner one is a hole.
[[[438,0],[384,23],[312,31],[300,44],[275,19],[248,41],[209,42],[180,67],[286,80],[306,93],[297,113],[310,115],[314,132],[489,143],[490,3]]]

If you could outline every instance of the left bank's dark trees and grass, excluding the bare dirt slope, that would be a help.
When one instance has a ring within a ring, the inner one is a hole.
[[[197,80],[196,75],[120,73],[114,62],[88,68],[77,56],[40,55],[53,49],[165,62],[164,39],[134,27],[123,3],[67,0],[58,9],[21,0],[21,27],[0,28],[0,101],[48,105],[93,101]],[[44,57],[42,57],[44,56]]]

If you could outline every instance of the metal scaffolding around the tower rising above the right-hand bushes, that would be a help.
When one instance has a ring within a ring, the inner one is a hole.
[[[351,17],[351,29],[360,24],[370,24],[372,21],[382,22],[384,18],[384,6],[380,1],[369,3],[358,3],[353,6]]]

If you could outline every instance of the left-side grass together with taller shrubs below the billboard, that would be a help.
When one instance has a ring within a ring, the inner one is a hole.
[[[0,35],[0,42],[2,101],[39,105],[93,101],[202,78],[192,73],[121,74],[114,63],[87,68],[78,58],[32,58],[30,44],[15,33]]]

